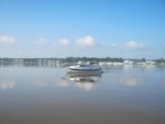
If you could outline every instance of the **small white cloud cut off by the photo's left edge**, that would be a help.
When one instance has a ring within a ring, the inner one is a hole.
[[[16,42],[15,38],[12,36],[0,36],[0,43],[13,44],[15,42]]]

